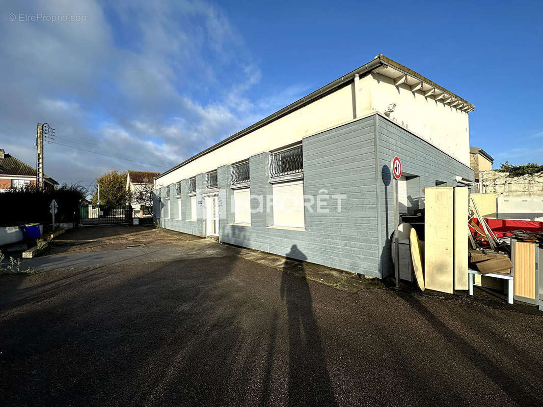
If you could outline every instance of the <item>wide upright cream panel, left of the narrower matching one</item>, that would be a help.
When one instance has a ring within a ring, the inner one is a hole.
[[[453,191],[453,187],[426,188],[424,222],[425,287],[451,294],[454,274]],[[463,231],[465,234],[465,227]]]

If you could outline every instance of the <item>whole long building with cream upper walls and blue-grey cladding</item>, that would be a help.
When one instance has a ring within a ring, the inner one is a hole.
[[[374,277],[425,187],[467,186],[473,105],[383,55],[155,179],[162,227]],[[295,245],[295,250],[291,250]]]

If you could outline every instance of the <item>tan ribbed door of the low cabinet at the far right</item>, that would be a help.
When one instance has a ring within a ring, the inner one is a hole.
[[[516,241],[513,257],[515,295],[535,299],[535,245]]]

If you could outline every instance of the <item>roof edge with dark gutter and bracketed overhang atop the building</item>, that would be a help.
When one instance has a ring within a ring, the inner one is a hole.
[[[192,156],[191,158],[188,158],[187,160],[183,161],[177,166],[167,171],[164,171],[160,175],[157,175],[153,179],[156,180],[157,178],[160,178],[163,175],[169,174],[172,171],[178,168],[181,168],[185,166],[186,164],[196,160],[197,158],[206,155],[208,152],[217,150],[218,148],[223,147],[223,145],[231,143],[232,141],[235,141],[238,138],[243,137],[244,135],[246,135],[247,133],[250,133],[251,131],[255,131],[256,129],[259,129],[267,125],[268,123],[273,122],[274,120],[277,120],[283,116],[288,115],[288,113],[298,110],[301,107],[304,107],[312,103],[313,101],[320,99],[326,96],[327,94],[332,93],[333,91],[336,91],[340,87],[348,85],[351,81],[355,79],[356,75],[364,76],[364,75],[369,75],[371,72],[376,72],[386,77],[392,78],[394,80],[395,86],[400,86],[400,85],[405,84],[406,86],[409,86],[411,88],[412,92],[422,92],[426,98],[431,97],[436,101],[440,101],[441,103],[445,105],[453,107],[454,109],[457,109],[466,113],[469,113],[475,110],[475,106],[473,106],[468,101],[446,90],[444,87],[441,87],[438,84],[435,84],[430,79],[423,77],[422,75],[413,71],[412,69],[409,69],[401,65],[401,63],[398,63],[390,58],[387,58],[386,56],[382,54],[379,54],[374,59],[372,59],[368,63],[365,63],[361,67],[354,69],[348,74],[343,75],[342,77],[334,80],[333,82],[330,82],[328,85],[325,85],[319,88],[318,90],[308,94],[307,96],[296,100],[294,103],[286,107],[283,107],[283,109],[278,110],[275,113],[272,113],[268,117],[260,120],[260,122],[252,124],[248,128],[245,128],[237,132],[236,134],[228,138],[225,138],[223,141],[220,141],[217,144],[212,145],[210,148],[207,148],[204,151],[199,152],[198,154]]]

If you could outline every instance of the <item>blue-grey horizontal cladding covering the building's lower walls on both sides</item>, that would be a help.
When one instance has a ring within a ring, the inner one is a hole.
[[[389,238],[394,230],[392,183],[384,185],[392,157],[401,158],[405,173],[419,176],[408,183],[408,195],[412,198],[415,195],[418,198],[422,188],[434,186],[435,180],[456,186],[456,175],[473,179],[470,168],[378,115],[306,137],[302,145],[304,194],[315,201],[313,211],[305,210],[306,230],[271,227],[273,207],[266,205],[263,212],[251,213],[250,226],[233,224],[230,166],[222,166],[217,171],[220,241],[282,256],[297,253],[291,256],[384,277],[390,273]],[[266,196],[272,195],[269,160],[268,153],[249,157],[250,192],[263,196],[264,203]],[[199,201],[203,200],[204,179],[205,174],[198,174]],[[171,219],[165,219],[163,211],[156,211],[159,203],[155,203],[155,218],[161,218],[162,227],[204,236],[204,206],[199,206],[196,222],[187,221],[190,198],[186,188],[181,190],[179,198],[171,196]],[[328,195],[324,199],[328,212],[316,211],[319,195],[323,198]],[[340,212],[332,195],[346,195]],[[177,199],[182,200],[182,220],[177,219]],[[161,200],[166,201],[165,188],[161,188]],[[251,207],[257,206],[258,201],[252,199]],[[291,250],[293,245],[297,251]]]

